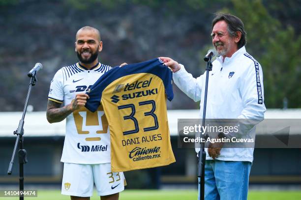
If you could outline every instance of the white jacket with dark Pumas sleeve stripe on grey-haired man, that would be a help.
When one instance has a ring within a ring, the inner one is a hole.
[[[241,47],[231,58],[212,62],[209,72],[206,119],[264,119],[263,74],[260,64]],[[176,85],[191,99],[200,102],[203,117],[206,72],[193,78],[184,66],[173,74]],[[255,126],[250,130],[255,136]],[[253,148],[223,148],[218,160],[253,161]],[[196,149],[198,152],[199,149]],[[206,149],[206,159],[212,159]]]

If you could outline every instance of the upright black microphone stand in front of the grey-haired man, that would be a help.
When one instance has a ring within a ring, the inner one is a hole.
[[[212,71],[212,63],[211,63],[212,55],[209,57],[209,59],[204,60],[207,61],[207,67],[206,67],[206,84],[205,84],[205,97],[204,97],[204,110],[203,110],[203,121],[202,126],[205,127],[205,118],[206,118],[206,106],[207,106],[207,93],[208,93],[208,80],[209,80],[209,72]],[[202,133],[203,134],[203,133]],[[204,135],[204,139],[206,136]],[[198,178],[199,178],[199,197],[200,200],[204,200],[205,198],[205,163],[206,163],[206,152],[205,152],[205,141],[200,142],[200,151],[198,153],[199,159],[198,159]]]

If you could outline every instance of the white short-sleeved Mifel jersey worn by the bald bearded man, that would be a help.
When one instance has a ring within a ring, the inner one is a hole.
[[[98,63],[88,70],[79,63],[61,68],[51,81],[48,100],[67,105],[76,94],[86,93],[111,67]],[[86,107],[66,118],[66,134],[61,162],[101,164],[111,162],[110,132],[102,106],[97,112]]]

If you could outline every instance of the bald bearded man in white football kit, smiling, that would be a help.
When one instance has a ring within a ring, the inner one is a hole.
[[[61,193],[71,200],[89,200],[94,183],[101,200],[118,200],[124,190],[123,173],[111,172],[110,132],[103,107],[94,113],[85,108],[86,92],[111,69],[98,62],[101,50],[96,28],[79,29],[75,42],[79,62],[61,68],[50,85],[47,120],[56,123],[66,118]]]

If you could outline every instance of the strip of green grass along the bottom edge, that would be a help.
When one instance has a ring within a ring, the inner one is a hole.
[[[0,200],[18,200],[19,198],[1,198]],[[70,200],[60,194],[60,190],[38,190],[37,198],[26,200]],[[99,200],[94,192],[91,200]],[[196,190],[125,190],[120,200],[196,200]],[[249,191],[248,200],[301,200],[301,191]]]

